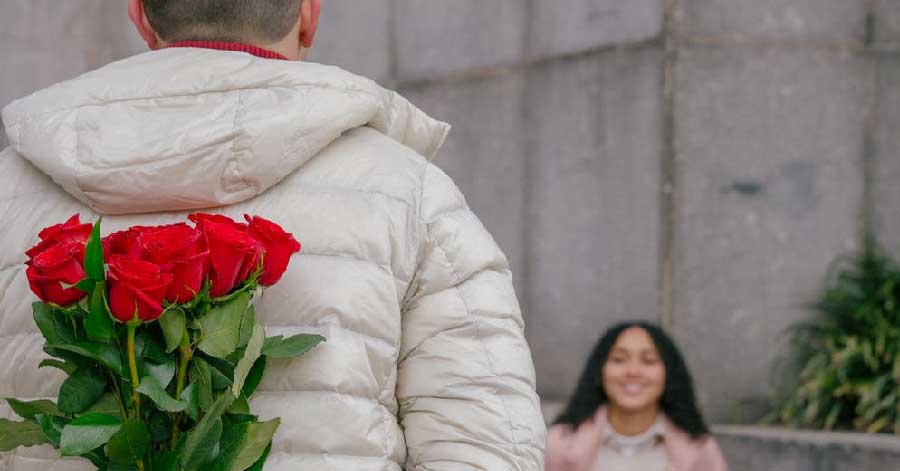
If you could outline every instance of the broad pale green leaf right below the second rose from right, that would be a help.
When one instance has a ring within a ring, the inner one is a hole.
[[[197,348],[216,358],[225,358],[238,348],[241,323],[250,304],[250,293],[213,307],[199,319],[202,337]]]

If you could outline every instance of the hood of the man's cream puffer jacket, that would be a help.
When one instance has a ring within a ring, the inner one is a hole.
[[[3,109],[10,144],[105,214],[252,198],[344,132],[432,158],[449,126],[337,67],[177,48],[140,54]]]

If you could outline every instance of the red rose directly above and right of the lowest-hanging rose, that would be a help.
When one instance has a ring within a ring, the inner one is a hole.
[[[186,303],[194,299],[206,275],[206,257],[200,231],[187,224],[173,224],[147,230],[138,240],[147,258],[163,273],[174,277],[166,301]]]

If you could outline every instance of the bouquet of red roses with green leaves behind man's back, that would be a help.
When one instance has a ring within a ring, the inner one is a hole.
[[[77,215],[42,230],[26,275],[34,320],[68,377],[57,403],[7,399],[0,451],[51,444],[100,470],[262,469],[279,425],[248,400],[266,358],[325,339],[266,337],[253,301],[300,250],[261,217],[192,214],[185,224],[100,237]]]

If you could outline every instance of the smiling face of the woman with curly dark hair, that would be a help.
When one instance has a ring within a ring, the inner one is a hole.
[[[624,330],[610,350],[602,374],[610,405],[625,412],[658,407],[666,385],[666,368],[646,330]]]

